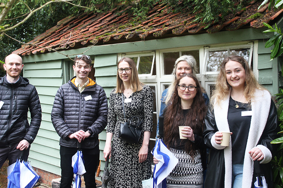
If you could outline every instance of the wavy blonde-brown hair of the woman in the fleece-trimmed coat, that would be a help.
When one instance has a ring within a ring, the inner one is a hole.
[[[236,61],[240,63],[246,72],[244,83],[244,97],[246,98],[246,100],[249,101],[254,97],[254,92],[256,89],[266,90],[264,87],[258,84],[254,73],[248,65],[248,62],[241,56],[231,55],[229,57],[226,57],[220,65],[219,74],[215,83],[215,90],[213,90],[212,96],[210,98],[211,109],[213,109],[214,104],[219,105],[223,100],[225,100],[228,97],[230,90],[232,89],[232,87],[227,82],[225,73],[225,65],[228,61]]]

